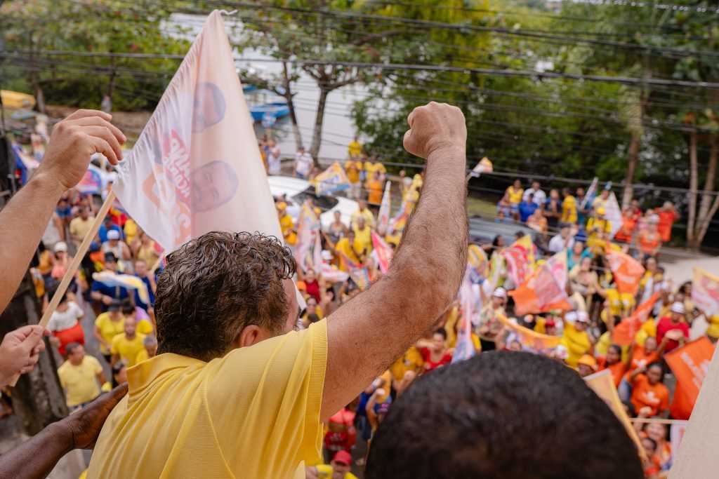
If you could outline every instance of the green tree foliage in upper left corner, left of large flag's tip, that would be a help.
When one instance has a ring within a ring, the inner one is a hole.
[[[178,60],[47,55],[47,50],[184,54],[183,29],[168,27],[178,2],[114,0],[6,1],[0,7],[3,88],[53,103],[116,110],[155,107]]]

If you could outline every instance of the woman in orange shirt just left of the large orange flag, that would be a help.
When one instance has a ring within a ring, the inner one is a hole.
[[[631,404],[637,417],[669,417],[669,389],[661,382],[664,368],[660,363],[637,368],[630,379]]]

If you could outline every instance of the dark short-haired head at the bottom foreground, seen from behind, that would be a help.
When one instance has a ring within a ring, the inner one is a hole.
[[[575,371],[482,353],[422,376],[372,439],[365,478],[641,479],[636,446]]]

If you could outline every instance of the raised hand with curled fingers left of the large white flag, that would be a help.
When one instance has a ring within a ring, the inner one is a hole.
[[[125,136],[110,123],[112,116],[97,110],[78,110],[52,129],[38,174],[44,174],[65,190],[85,175],[90,157],[104,154],[111,164],[122,159]]]

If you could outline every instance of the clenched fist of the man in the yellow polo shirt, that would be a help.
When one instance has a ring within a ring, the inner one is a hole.
[[[418,106],[407,117],[409,131],[404,136],[405,149],[416,157],[427,159],[442,149],[464,149],[467,125],[456,106],[434,101]]]

